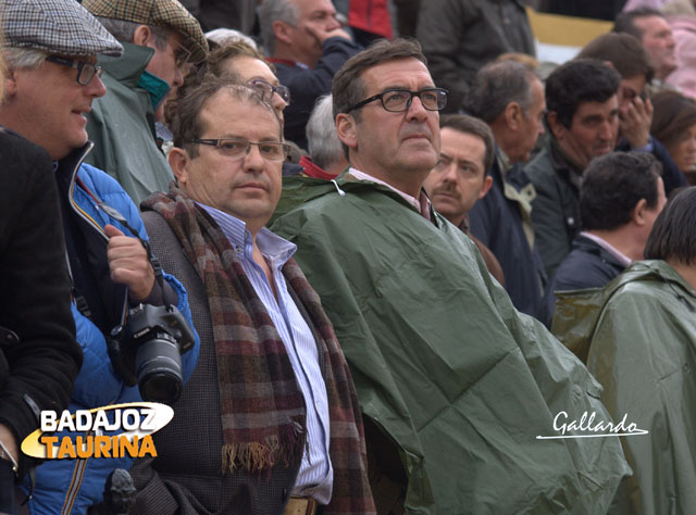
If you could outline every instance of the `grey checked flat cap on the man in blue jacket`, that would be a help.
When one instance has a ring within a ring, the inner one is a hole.
[[[123,47],[75,0],[0,0],[4,46],[62,55],[121,55]]]

